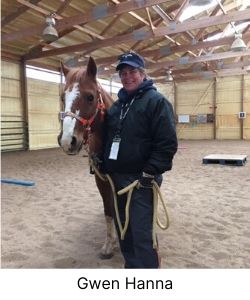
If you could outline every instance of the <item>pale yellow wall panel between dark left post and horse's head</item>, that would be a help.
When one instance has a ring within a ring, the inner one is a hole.
[[[28,78],[27,86],[30,149],[58,147],[59,85]]]

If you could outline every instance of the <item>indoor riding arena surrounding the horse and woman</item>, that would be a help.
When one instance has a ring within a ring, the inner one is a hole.
[[[178,136],[161,186],[161,268],[250,268],[249,1],[1,6],[1,267],[124,267],[118,242],[100,256],[106,223],[88,151],[67,155],[57,142],[60,64],[86,67],[91,56],[116,100],[118,57],[136,51],[172,103]]]

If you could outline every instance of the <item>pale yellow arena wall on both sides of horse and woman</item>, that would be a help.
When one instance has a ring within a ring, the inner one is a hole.
[[[23,79],[22,74],[21,64],[2,61],[1,149],[58,147],[59,84]],[[157,88],[174,107],[179,139],[250,139],[250,75]],[[245,112],[243,118],[240,112]]]

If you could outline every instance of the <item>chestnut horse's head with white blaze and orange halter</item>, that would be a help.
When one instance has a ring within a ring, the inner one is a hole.
[[[77,154],[86,142],[95,119],[102,117],[105,107],[93,58],[89,58],[86,70],[62,64],[62,71],[66,84],[62,92],[64,111],[60,116],[63,124],[58,143],[67,154]]]

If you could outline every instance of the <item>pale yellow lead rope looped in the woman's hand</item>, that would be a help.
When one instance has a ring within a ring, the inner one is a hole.
[[[108,181],[111,186],[111,190],[112,190],[113,197],[114,197],[114,208],[115,208],[115,214],[116,214],[118,228],[120,231],[120,237],[121,237],[121,240],[124,240],[126,231],[128,229],[128,224],[129,224],[129,207],[130,207],[130,202],[131,202],[131,198],[132,198],[132,193],[135,188],[139,188],[139,180],[135,180],[134,182],[132,182],[131,184],[129,184],[128,186],[126,186],[125,188],[123,188],[122,190],[117,192],[117,194],[119,196],[127,193],[127,203],[126,203],[126,207],[125,207],[125,223],[124,223],[124,226],[122,226],[121,219],[119,216],[119,211],[118,211],[118,200],[117,200],[115,186],[114,186],[112,178],[110,177],[109,174],[105,174],[105,175],[101,174],[100,171],[94,165],[93,160],[90,160],[90,166],[91,166],[91,168],[93,168],[95,174],[101,180]],[[152,187],[152,190],[153,190],[152,240],[153,240],[153,248],[156,249],[157,248],[156,225],[158,225],[162,230],[166,230],[169,227],[170,221],[169,221],[167,207],[166,207],[166,204],[164,203],[160,187],[155,180],[153,180],[152,183],[153,183],[153,187]],[[159,200],[159,198],[160,198],[160,202],[162,204],[163,210],[164,210],[165,224],[162,224],[162,222],[160,221],[160,219],[158,217],[158,204],[159,204],[158,200]]]

